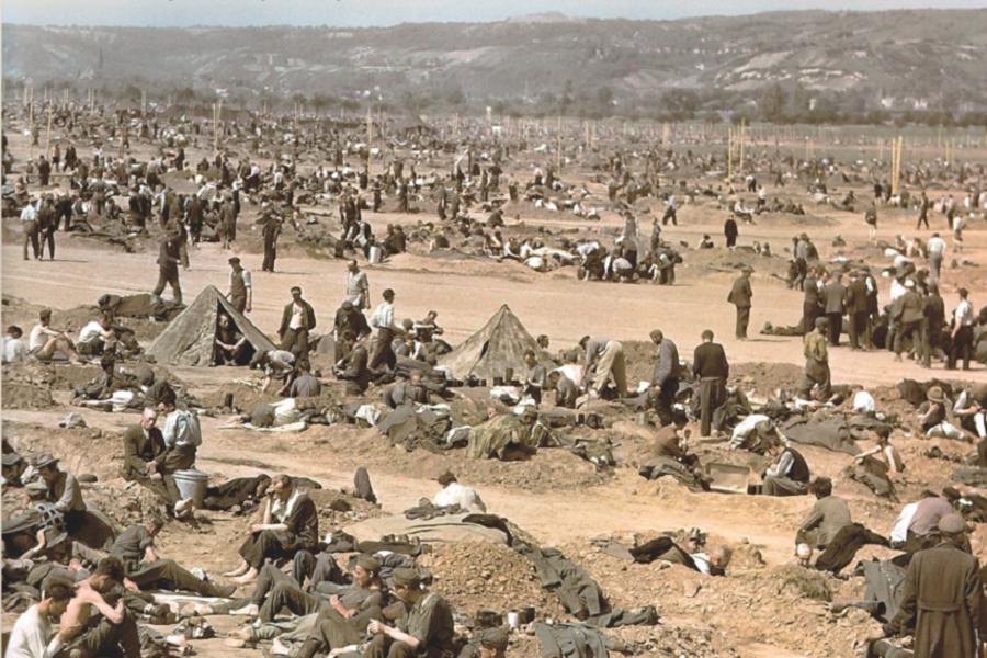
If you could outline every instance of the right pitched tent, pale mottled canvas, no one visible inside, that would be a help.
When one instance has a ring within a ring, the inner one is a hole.
[[[538,344],[507,304],[494,314],[486,326],[440,359],[457,379],[501,377],[507,368],[520,373],[524,352],[540,354]]]

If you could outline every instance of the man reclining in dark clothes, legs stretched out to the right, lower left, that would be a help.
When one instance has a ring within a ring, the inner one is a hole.
[[[164,525],[163,519],[149,515],[144,524],[132,525],[113,542],[110,555],[118,558],[127,579],[141,590],[179,590],[200,597],[226,598],[236,591],[236,586],[219,586],[201,580],[173,559],[161,559],[155,551],[155,536]],[[99,561],[100,552],[75,545],[78,557]],[[93,559],[95,558],[95,559]]]

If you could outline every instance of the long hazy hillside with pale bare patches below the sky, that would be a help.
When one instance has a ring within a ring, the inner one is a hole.
[[[224,90],[242,99],[434,95],[450,103],[670,90],[757,100],[775,83],[867,106],[987,107],[987,9],[676,21],[535,14],[387,29],[3,25],[3,76],[34,84]]]

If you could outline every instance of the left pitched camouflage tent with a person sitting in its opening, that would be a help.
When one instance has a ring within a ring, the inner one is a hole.
[[[252,359],[257,352],[276,349],[260,329],[237,313],[226,297],[209,285],[189,308],[171,320],[168,328],[147,349],[147,353],[157,359],[158,363],[212,365],[220,311],[229,316],[232,325],[247,339],[248,348],[242,360]]]

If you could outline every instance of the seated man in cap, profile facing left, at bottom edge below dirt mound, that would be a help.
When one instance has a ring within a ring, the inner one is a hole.
[[[409,658],[443,656],[453,650],[452,609],[435,592],[424,589],[418,569],[399,567],[392,576],[394,594],[408,606],[394,626],[372,621],[367,633],[374,638],[364,658]]]

